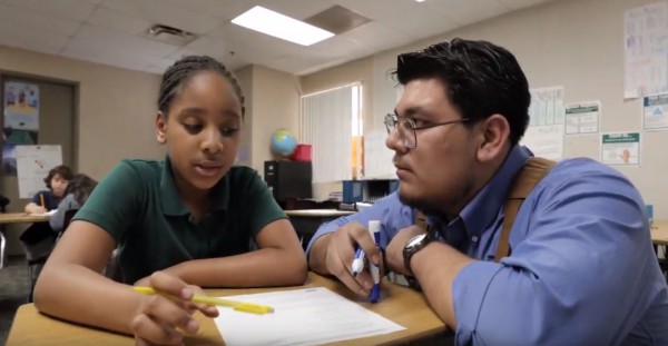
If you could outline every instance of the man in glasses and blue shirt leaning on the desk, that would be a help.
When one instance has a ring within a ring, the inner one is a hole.
[[[382,261],[365,229],[380,219],[385,268],[416,279],[456,345],[668,345],[645,204],[610,167],[554,165],[517,214],[510,254],[493,261],[507,192],[530,157],[518,145],[529,86],[512,53],[453,39],[400,55],[396,77],[403,93],[385,125],[399,194],[321,227],[313,270],[367,294],[369,276],[353,277],[351,263],[357,245]],[[436,234],[410,226],[411,208]]]

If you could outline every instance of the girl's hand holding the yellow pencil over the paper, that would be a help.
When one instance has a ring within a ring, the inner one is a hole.
[[[183,335],[177,328],[189,334],[199,329],[193,313],[199,310],[208,317],[218,316],[216,307],[190,301],[193,295],[200,290],[199,287],[187,285],[169,274],[156,271],[137,284],[153,287],[165,295],[151,295],[143,299],[130,324],[136,345],[183,345]]]

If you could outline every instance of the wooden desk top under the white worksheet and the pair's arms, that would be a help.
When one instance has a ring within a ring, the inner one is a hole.
[[[308,274],[308,281],[304,287],[326,287],[353,301],[360,301],[358,298],[341,283],[314,273]],[[232,296],[295,288],[302,287],[209,289],[207,293],[214,296]],[[367,309],[404,326],[406,329],[381,336],[338,342],[333,345],[400,344],[443,334],[445,332],[445,325],[431,310],[426,300],[420,293],[406,287],[385,283],[383,286],[383,295],[384,298],[379,304],[360,304]],[[186,339],[186,345],[225,345],[213,319],[206,318],[200,314],[197,314],[197,318],[200,322],[200,330],[196,336],[188,337]],[[308,333],[308,330],[304,330],[304,333]],[[134,344],[135,340],[128,336],[78,326],[41,315],[32,304],[26,304],[19,307],[7,340],[7,346],[129,346]]]

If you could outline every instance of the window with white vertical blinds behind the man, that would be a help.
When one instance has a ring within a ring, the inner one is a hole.
[[[362,85],[302,96],[299,134],[313,148],[313,182],[361,178]]]

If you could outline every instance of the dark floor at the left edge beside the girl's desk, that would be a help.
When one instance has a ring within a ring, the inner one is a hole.
[[[9,257],[0,269],[0,345],[7,342],[17,308],[28,298],[28,266],[22,256]]]

